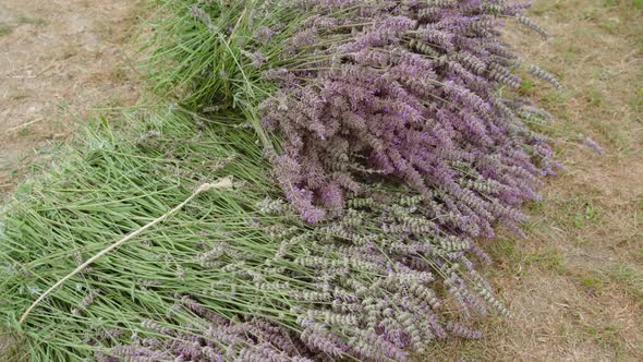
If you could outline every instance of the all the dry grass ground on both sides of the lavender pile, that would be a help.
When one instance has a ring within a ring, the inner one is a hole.
[[[131,104],[124,44],[129,1],[0,3],[0,194],[95,106]],[[529,205],[527,238],[486,245],[486,269],[511,318],[485,337],[449,340],[439,361],[643,360],[643,1],[536,0],[553,36],[511,28],[508,40],[556,74],[556,90],[520,92],[556,119],[538,125],[566,167]],[[605,148],[585,145],[591,137]]]

